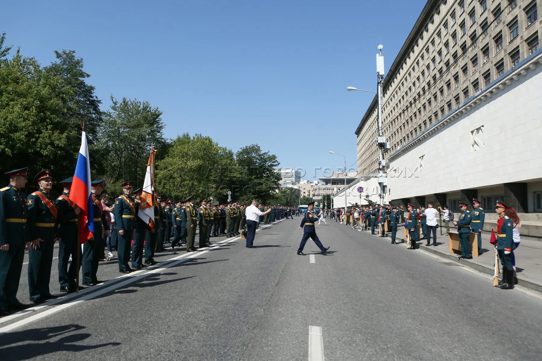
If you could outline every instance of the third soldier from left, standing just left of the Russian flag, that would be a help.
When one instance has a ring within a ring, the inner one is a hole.
[[[61,181],[64,191],[59,196],[55,205],[59,211],[59,284],[60,291],[66,293],[75,292],[77,268],[75,252],[79,251],[79,259],[82,259],[81,247],[79,247],[79,214],[81,209],[69,199],[69,191],[72,188],[73,177]],[[70,255],[72,262],[69,264]],[[69,268],[68,268],[69,266]]]

